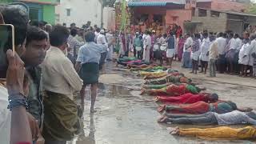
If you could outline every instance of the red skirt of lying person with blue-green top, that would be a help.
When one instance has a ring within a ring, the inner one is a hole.
[[[180,105],[180,106],[167,106],[166,111],[170,113],[178,113],[178,114],[205,114],[209,112],[210,104],[206,102],[195,102],[193,104],[188,105]]]

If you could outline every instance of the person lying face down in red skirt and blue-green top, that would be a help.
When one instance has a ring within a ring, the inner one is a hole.
[[[238,106],[234,102],[230,101],[218,101],[214,103],[207,103],[207,102],[195,102],[192,104],[187,105],[179,105],[179,106],[172,106],[172,105],[164,105],[160,106],[158,111],[172,114],[205,114],[207,112],[215,112],[218,114],[225,114],[229,113],[234,110],[239,110],[243,112],[249,112],[251,108],[238,108]]]

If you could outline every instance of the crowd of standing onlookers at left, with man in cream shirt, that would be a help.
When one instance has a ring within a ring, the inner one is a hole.
[[[83,28],[30,22],[28,7],[17,2],[0,6],[0,16],[1,24],[14,26],[15,48],[10,37],[1,50],[1,143],[70,141],[82,128],[86,86],[91,87],[90,113],[96,112],[99,70],[112,59],[111,31],[90,22]]]

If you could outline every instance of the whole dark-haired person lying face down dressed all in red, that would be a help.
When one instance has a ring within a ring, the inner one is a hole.
[[[165,104],[190,104],[195,102],[207,102],[213,103],[218,101],[218,94],[182,94],[178,97],[168,97],[168,96],[157,96],[156,102],[163,102]]]

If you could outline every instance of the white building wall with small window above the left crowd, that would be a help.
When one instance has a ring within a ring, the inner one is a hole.
[[[66,16],[66,9],[70,9],[70,16]],[[74,22],[81,27],[87,21],[91,22],[91,26],[101,24],[101,4],[98,0],[61,0],[60,5],[56,6],[56,15],[59,15],[59,21],[56,23]]]

